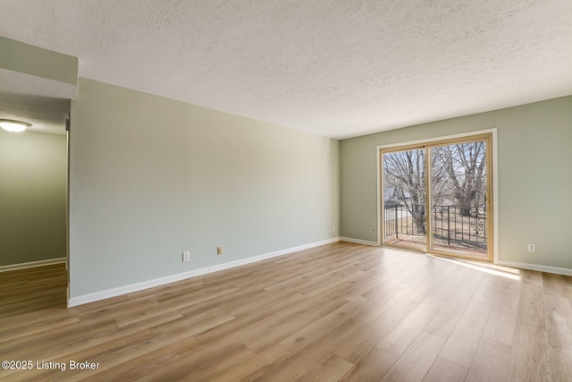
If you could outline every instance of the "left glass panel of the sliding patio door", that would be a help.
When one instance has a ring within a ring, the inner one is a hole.
[[[425,149],[384,152],[383,242],[426,250]]]

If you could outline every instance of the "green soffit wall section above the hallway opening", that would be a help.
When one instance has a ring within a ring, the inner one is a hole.
[[[78,59],[0,36],[0,68],[71,85],[78,83]]]

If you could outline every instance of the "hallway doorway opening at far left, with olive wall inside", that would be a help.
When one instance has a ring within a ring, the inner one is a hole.
[[[0,91],[0,118],[30,124],[0,131],[0,317],[67,305],[70,106]]]

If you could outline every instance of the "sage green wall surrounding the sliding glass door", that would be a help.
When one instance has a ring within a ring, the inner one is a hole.
[[[490,128],[498,129],[499,259],[572,268],[572,97],[341,140],[341,236],[377,241],[377,146]]]

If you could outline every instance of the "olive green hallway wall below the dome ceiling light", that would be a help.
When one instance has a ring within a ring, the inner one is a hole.
[[[0,266],[65,257],[66,145],[0,129]]]

